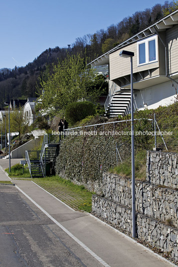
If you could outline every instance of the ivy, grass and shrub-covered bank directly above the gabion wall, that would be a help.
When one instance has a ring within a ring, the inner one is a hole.
[[[136,178],[145,179],[146,177],[146,150],[152,150],[155,146],[153,121],[148,119],[156,119],[161,132],[170,132],[170,135],[164,135],[168,151],[178,152],[178,102],[168,107],[159,107],[156,110],[144,110],[135,113],[135,133],[153,134],[137,134],[135,135],[135,152],[136,152]],[[130,115],[122,118],[130,120]],[[84,119],[76,126],[93,125],[103,122],[114,122],[118,119],[107,119],[100,116]],[[121,118],[120,118],[121,120]],[[96,181],[102,182],[102,171],[111,170],[120,175],[131,176],[131,134],[125,134],[131,131],[131,123],[129,121],[115,124],[115,132],[122,134],[112,134],[113,124],[98,126],[95,128],[97,134],[91,134],[94,127],[86,130],[78,135],[66,136],[60,147],[60,154],[56,160],[56,172],[63,177],[73,180],[79,184],[89,187],[89,190],[97,191]],[[75,130],[77,131],[77,130]],[[87,133],[90,132],[90,133]],[[102,133],[103,134],[100,134]],[[157,133],[158,133],[157,128]],[[106,133],[106,134],[105,134]],[[110,134],[109,134],[110,133]],[[116,144],[123,164],[118,156],[116,157]],[[120,146],[122,144],[122,146]],[[161,135],[157,136],[157,146],[162,147],[163,151],[167,151],[164,146]]]

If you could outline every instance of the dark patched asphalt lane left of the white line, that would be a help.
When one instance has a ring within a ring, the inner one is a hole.
[[[15,186],[0,185],[0,267],[101,267]]]

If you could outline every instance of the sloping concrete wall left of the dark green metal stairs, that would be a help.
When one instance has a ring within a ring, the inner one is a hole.
[[[10,153],[11,158],[24,158],[25,150],[33,150],[35,146],[39,145],[40,141],[41,141],[40,138],[32,139],[22,144],[21,146],[15,148]]]

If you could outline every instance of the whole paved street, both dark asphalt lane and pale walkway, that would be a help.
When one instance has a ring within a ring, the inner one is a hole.
[[[175,266],[32,181],[13,182],[0,185],[0,267]]]

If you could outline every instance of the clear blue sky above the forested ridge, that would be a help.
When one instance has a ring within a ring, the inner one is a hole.
[[[0,68],[25,66],[47,48],[107,29],[165,0],[0,0]]]

